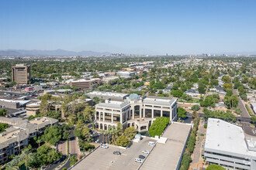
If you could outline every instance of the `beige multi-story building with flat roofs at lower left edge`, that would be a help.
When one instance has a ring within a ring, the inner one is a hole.
[[[48,126],[57,124],[57,120],[50,117],[36,117],[30,121],[16,117],[0,117],[0,123],[11,125],[0,133],[0,164],[2,164],[10,155],[18,154],[22,148],[29,145],[30,138],[42,134]]]

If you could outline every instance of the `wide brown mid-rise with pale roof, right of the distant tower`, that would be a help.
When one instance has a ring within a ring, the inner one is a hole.
[[[93,83],[101,84],[102,80],[99,78],[95,79],[81,79],[71,81],[71,87],[76,86],[80,89],[90,89]]]

